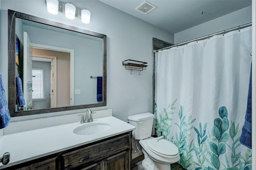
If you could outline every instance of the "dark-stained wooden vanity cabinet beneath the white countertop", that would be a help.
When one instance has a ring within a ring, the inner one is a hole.
[[[131,170],[132,132],[22,162],[6,170]]]

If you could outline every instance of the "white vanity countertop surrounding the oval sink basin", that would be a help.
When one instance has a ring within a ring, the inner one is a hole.
[[[73,133],[76,127],[90,123],[108,123],[111,128],[93,135],[76,135]],[[10,162],[8,164],[21,163],[22,160],[26,161],[28,158],[37,158],[40,155],[60,152],[70,147],[92,143],[135,129],[130,123],[113,116],[95,119],[90,123],[81,124],[76,122],[4,135],[1,138],[0,155],[9,152]],[[4,168],[4,166],[1,164],[0,168]]]

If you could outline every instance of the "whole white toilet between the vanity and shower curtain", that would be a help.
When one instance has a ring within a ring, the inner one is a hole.
[[[134,139],[140,140],[144,160],[142,166],[146,170],[170,170],[170,164],[180,160],[176,145],[163,137],[151,137],[154,115],[141,113],[128,116],[128,120],[136,129],[132,132]]]

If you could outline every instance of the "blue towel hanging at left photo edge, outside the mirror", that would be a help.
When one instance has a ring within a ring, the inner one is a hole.
[[[2,74],[0,73],[0,129],[8,126],[11,121],[10,112],[6,102]]]

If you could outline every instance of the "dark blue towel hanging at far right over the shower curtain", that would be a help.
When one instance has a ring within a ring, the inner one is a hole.
[[[240,143],[252,149],[252,65],[250,73],[250,82],[248,89],[247,108]]]

